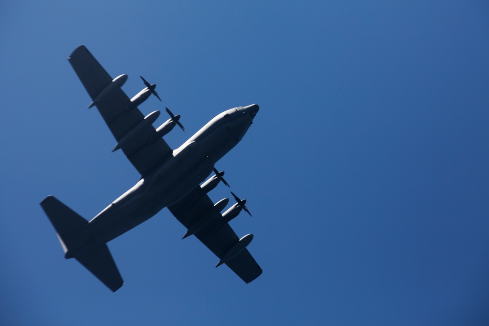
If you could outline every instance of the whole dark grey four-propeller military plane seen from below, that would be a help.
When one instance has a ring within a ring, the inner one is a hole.
[[[229,199],[213,203],[207,196],[221,181],[229,186],[224,172],[218,172],[215,164],[242,140],[259,110],[258,105],[218,114],[172,150],[162,137],[176,125],[184,130],[180,116],[166,108],[170,119],[155,129],[152,124],[160,111],[144,116],[137,108],[151,94],[161,101],[155,84],[141,77],[146,88],[129,99],[121,89],[128,76],[112,78],[84,45],[71,53],[68,62],[89,93],[92,100],[89,108],[96,106],[117,141],[112,152],[124,152],[141,178],[90,221],[54,196],[41,202],[65,259],[76,259],[115,292],[123,280],[107,242],[167,207],[186,228],[182,239],[197,237],[219,258],[216,267],[226,264],[245,283],[260,276],[262,269],[246,249],[253,235],[239,238],[229,225],[242,210],[250,214],[245,200],[231,193],[237,203],[221,214]],[[215,174],[206,180],[212,172]]]

